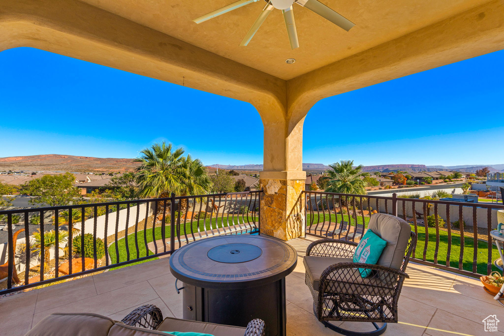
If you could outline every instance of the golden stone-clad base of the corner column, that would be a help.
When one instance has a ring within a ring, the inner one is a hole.
[[[304,181],[261,179],[261,234],[282,240],[304,236]]]

